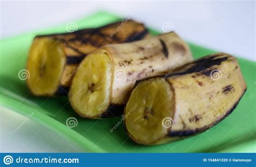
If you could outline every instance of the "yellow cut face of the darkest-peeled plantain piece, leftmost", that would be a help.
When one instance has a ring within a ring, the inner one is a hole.
[[[65,66],[62,43],[48,37],[37,37],[32,43],[27,69],[28,85],[37,96],[51,96],[59,86]]]

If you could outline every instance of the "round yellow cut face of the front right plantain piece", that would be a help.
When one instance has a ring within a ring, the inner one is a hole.
[[[140,144],[165,140],[172,126],[172,101],[167,81],[157,78],[139,83],[125,107],[125,126],[131,138]]]

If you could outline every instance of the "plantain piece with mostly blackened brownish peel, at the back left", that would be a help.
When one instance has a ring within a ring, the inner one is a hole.
[[[149,36],[143,24],[127,19],[73,33],[39,35],[29,52],[28,87],[36,96],[66,94],[86,55],[106,44],[132,42]]]

